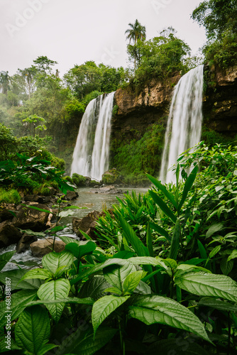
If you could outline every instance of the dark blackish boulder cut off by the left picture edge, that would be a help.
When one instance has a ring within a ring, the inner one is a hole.
[[[21,232],[11,222],[4,221],[0,223],[0,248],[18,243],[21,236]]]

